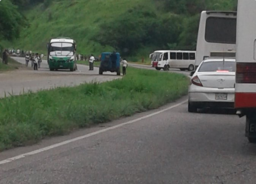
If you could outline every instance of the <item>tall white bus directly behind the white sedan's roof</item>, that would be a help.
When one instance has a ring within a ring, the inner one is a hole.
[[[235,57],[237,12],[202,11],[197,36],[196,68],[208,57]]]

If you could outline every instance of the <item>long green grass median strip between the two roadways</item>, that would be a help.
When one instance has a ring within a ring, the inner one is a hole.
[[[128,68],[122,79],[0,100],[0,150],[156,109],[186,95],[181,74]]]

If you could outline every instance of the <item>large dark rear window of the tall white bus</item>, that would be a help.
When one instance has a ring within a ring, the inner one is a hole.
[[[206,20],[205,41],[236,44],[236,19],[209,17]]]

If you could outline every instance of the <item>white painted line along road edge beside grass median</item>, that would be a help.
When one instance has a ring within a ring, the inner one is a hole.
[[[116,128],[119,128],[119,127],[123,127],[124,125],[127,125],[127,124],[132,124],[132,123],[138,122],[139,120],[146,119],[146,118],[149,118],[149,117],[151,117],[151,116],[154,116],[154,115],[163,113],[164,111],[167,111],[167,110],[173,109],[173,108],[175,108],[175,107],[178,107],[178,106],[180,106],[180,105],[186,103],[187,101],[188,101],[188,100],[184,100],[184,101],[180,102],[179,104],[176,104],[176,105],[167,107],[166,109],[157,111],[156,113],[152,113],[152,114],[149,114],[149,115],[145,115],[145,116],[143,116],[143,117],[141,117],[141,118],[137,118],[137,119],[134,119],[134,120],[130,120],[129,122],[121,123],[121,124],[115,125],[115,126],[113,126],[113,127],[101,129],[100,131],[96,131],[96,132],[92,132],[92,133],[86,134],[85,136],[76,137],[76,138],[73,138],[73,139],[71,139],[71,140],[67,140],[67,141],[63,141],[63,142],[60,142],[60,143],[56,143],[56,144],[51,145],[51,146],[43,147],[42,149],[38,149],[38,150],[35,150],[35,151],[27,152],[27,153],[25,153],[25,154],[21,154],[21,155],[14,156],[14,157],[9,158],[9,159],[6,159],[6,160],[2,160],[2,161],[0,161],[0,165],[6,164],[6,163],[9,163],[9,162],[11,162],[11,161],[18,160],[18,159],[25,158],[26,156],[35,155],[35,154],[38,154],[39,152],[51,150],[51,149],[54,149],[54,148],[59,147],[59,146],[67,145],[68,143],[75,142],[75,141],[79,141],[79,140],[82,140],[82,139],[84,139],[84,138],[94,136],[94,135],[96,135],[96,134],[100,134],[100,133],[103,133],[103,132],[110,131],[110,130],[112,130],[112,129],[116,129]]]

